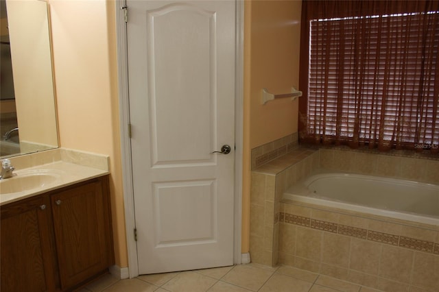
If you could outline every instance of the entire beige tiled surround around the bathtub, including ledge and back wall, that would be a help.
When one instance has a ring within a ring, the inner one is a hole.
[[[439,181],[439,161],[297,147],[252,171],[252,262],[282,263],[384,291],[439,291],[439,226],[281,202],[320,168]]]

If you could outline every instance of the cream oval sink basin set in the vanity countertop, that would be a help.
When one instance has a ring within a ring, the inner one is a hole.
[[[32,191],[59,182],[60,174],[52,171],[23,171],[0,180],[0,195]]]

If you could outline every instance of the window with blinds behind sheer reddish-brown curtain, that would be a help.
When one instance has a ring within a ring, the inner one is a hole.
[[[304,1],[302,141],[439,152],[437,2],[353,2]]]

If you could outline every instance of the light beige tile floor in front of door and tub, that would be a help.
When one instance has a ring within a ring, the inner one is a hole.
[[[378,292],[294,267],[236,265],[118,280],[107,274],[78,292]]]

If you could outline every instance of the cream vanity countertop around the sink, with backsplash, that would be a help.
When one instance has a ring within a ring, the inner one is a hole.
[[[16,175],[13,178],[7,178],[0,181],[7,182],[8,180],[19,180],[20,175],[24,176],[29,173],[51,173],[56,177],[54,182],[32,188],[29,191],[19,191],[16,193],[5,193],[0,194],[0,206],[9,204],[12,202],[19,201],[20,199],[25,199],[27,197],[32,197],[34,195],[39,195],[41,193],[46,193],[47,191],[52,191],[64,186],[69,186],[78,182],[84,182],[86,180],[91,180],[93,178],[98,178],[100,176],[109,173],[106,169],[98,169],[94,167],[88,167],[84,165],[78,165],[72,162],[65,162],[63,160],[58,160],[55,162],[38,165],[35,167],[28,167],[24,169],[17,169],[14,171]]]

